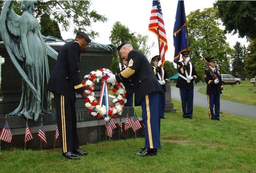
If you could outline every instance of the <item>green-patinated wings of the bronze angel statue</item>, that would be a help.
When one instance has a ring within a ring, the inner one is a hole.
[[[24,49],[22,48],[20,38],[20,16],[13,11],[12,4],[13,1],[6,1],[2,8],[2,12],[0,15],[1,36],[4,41],[4,46],[6,47],[6,50],[10,56],[10,60],[12,61],[12,64],[14,64],[18,73],[20,74],[20,76],[22,76],[24,82],[26,82],[28,87],[30,87],[35,97],[39,101],[41,101],[40,93],[36,90],[33,83],[19,64],[19,62],[24,62],[26,57]],[[56,59],[58,53],[48,45],[45,47],[47,53],[51,54],[52,58]]]

